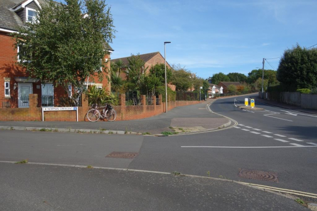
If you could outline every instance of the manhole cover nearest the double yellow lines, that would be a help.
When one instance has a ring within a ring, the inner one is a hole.
[[[278,182],[277,173],[270,172],[270,171],[239,169],[238,176],[244,177],[247,179],[258,179],[258,180]]]

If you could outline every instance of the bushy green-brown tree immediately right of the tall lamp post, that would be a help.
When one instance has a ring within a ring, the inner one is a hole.
[[[187,91],[193,86],[192,73],[189,70],[180,67],[180,65],[174,65],[172,69],[171,83],[176,85],[176,90]]]

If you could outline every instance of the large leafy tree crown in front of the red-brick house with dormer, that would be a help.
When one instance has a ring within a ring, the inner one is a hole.
[[[87,77],[106,67],[105,45],[114,38],[110,8],[105,0],[65,0],[66,5],[47,1],[38,21],[18,29],[15,47],[19,64],[30,78],[51,81],[55,86],[73,84],[82,90]],[[86,14],[87,17],[84,17]]]

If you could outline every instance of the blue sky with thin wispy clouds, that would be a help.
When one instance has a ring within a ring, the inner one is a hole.
[[[208,78],[248,74],[263,58],[279,57],[297,42],[317,43],[316,0],[107,0],[116,38],[111,58],[159,51]],[[277,69],[279,59],[268,60]],[[265,69],[273,69],[268,63]]]

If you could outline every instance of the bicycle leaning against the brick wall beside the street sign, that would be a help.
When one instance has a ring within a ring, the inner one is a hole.
[[[103,109],[101,112],[100,109]],[[87,112],[87,119],[90,122],[97,122],[100,118],[105,119],[109,122],[113,122],[117,114],[113,109],[112,105],[106,104],[106,106],[100,106],[98,104],[93,104],[92,109]]]

